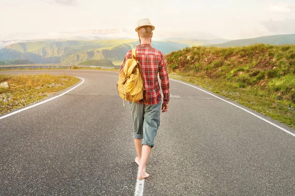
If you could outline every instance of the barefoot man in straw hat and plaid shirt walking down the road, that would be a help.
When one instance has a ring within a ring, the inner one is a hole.
[[[139,166],[138,178],[144,179],[149,176],[145,168],[160,125],[160,112],[161,110],[162,112],[168,111],[170,93],[165,57],[161,51],[151,47],[152,31],[155,27],[150,24],[149,19],[139,20],[137,24],[138,27],[135,31],[138,32],[140,44],[136,47],[136,58],[142,68],[148,101],[141,100],[137,103],[131,103],[131,115],[134,128],[133,139],[137,153],[135,162]],[[131,50],[125,55],[121,69],[128,58],[131,58]],[[158,73],[164,96],[163,103]]]

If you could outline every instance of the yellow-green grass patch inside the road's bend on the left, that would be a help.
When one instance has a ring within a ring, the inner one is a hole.
[[[0,88],[0,114],[11,112],[47,98],[57,91],[79,81],[70,76],[51,75],[0,75],[0,83],[9,88]]]

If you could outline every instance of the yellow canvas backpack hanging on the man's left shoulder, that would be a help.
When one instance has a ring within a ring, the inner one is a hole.
[[[123,106],[124,100],[138,102],[144,96],[147,97],[141,66],[136,60],[136,49],[132,49],[131,58],[125,61],[124,67],[119,73],[117,90],[123,99]]]

